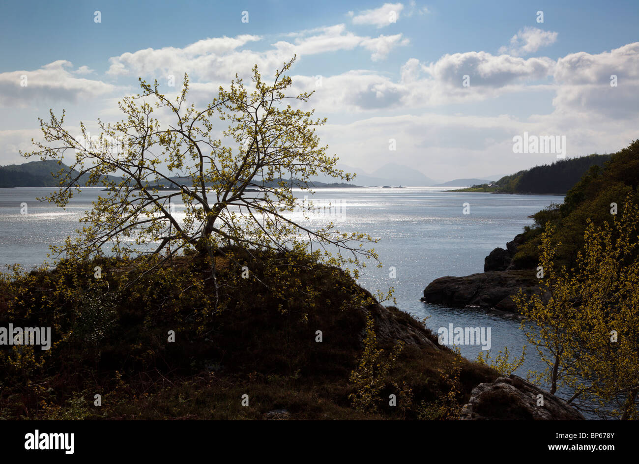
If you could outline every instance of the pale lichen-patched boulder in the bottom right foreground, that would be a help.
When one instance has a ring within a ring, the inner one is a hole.
[[[541,396],[540,396],[541,395]],[[516,375],[480,383],[461,408],[461,421],[583,421],[563,399]]]

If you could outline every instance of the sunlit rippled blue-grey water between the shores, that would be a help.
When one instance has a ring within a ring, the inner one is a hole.
[[[450,188],[450,187],[449,187]],[[0,265],[39,265],[48,246],[59,244],[77,228],[78,219],[101,188],[83,190],[66,210],[38,203],[35,198],[50,189],[0,189]],[[433,330],[448,327],[490,327],[493,357],[505,346],[514,355],[526,344],[520,322],[509,315],[480,309],[459,309],[424,304],[419,301],[429,282],[443,275],[468,275],[484,270],[484,258],[495,247],[531,225],[527,216],[562,196],[498,195],[452,193],[436,187],[404,189],[316,189],[313,199],[332,201],[338,206],[331,220],[343,231],[359,231],[380,238],[375,245],[383,268],[367,267],[360,284],[372,291],[395,288],[397,307],[417,318],[428,318]],[[298,192],[303,198],[304,192]],[[463,214],[463,203],[470,214]],[[28,212],[20,214],[21,203]],[[180,206],[176,210],[180,212]],[[295,214],[295,213],[294,213]],[[314,218],[318,225],[326,218]],[[390,267],[396,278],[390,278]],[[392,304],[392,303],[386,303]],[[481,346],[461,345],[461,353],[476,359]],[[524,366],[516,373],[541,369],[532,346]],[[566,393],[567,394],[567,393]],[[564,395],[561,395],[564,396]]]

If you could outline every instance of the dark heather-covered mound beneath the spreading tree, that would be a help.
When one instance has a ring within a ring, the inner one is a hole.
[[[381,379],[378,406],[356,410],[349,377],[366,309],[383,307],[311,256],[224,252],[217,307],[212,263],[196,255],[142,274],[133,261],[103,258],[5,275],[0,327],[50,326],[54,343],[0,346],[0,418],[262,419],[285,409],[291,419],[452,419],[475,385],[497,377],[447,348],[409,343]],[[412,316],[383,310],[436,343]],[[378,336],[385,353],[396,342]],[[396,385],[404,395],[391,407]]]

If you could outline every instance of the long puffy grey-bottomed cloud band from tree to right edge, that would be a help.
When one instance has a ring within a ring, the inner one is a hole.
[[[610,86],[613,74],[617,87]],[[470,87],[463,86],[465,75]],[[557,62],[488,52],[446,54],[433,63],[410,58],[400,67],[399,79],[387,73],[351,70],[323,77],[320,88],[309,76],[295,76],[293,83],[296,91],[315,90],[319,97],[311,106],[328,113],[420,109],[537,91],[554,94],[553,114],[636,117],[639,43],[601,54],[570,54]]]

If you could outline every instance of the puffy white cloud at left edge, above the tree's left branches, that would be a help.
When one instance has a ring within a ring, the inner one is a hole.
[[[116,89],[112,84],[74,75],[87,70],[87,66],[73,70],[70,61],[60,59],[34,71],[0,73],[0,103],[26,106],[40,100],[77,102]]]

